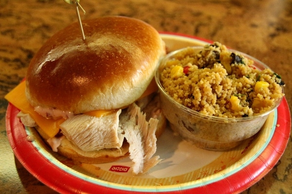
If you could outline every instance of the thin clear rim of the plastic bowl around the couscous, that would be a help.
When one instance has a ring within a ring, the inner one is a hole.
[[[159,91],[165,96],[167,97],[168,100],[170,100],[170,102],[172,102],[173,104],[175,104],[176,106],[178,106],[178,108],[180,108],[181,110],[183,110],[183,112],[185,113],[188,113],[190,115],[193,115],[193,116],[199,116],[201,117],[202,119],[206,119],[206,120],[214,120],[216,122],[222,122],[222,123],[226,123],[226,122],[246,122],[246,121],[250,121],[250,120],[254,120],[254,119],[257,119],[257,118],[261,118],[261,117],[264,117],[264,116],[267,116],[268,114],[270,114],[271,112],[273,112],[281,103],[283,97],[281,97],[279,100],[277,100],[274,104],[273,107],[271,107],[268,111],[264,112],[264,113],[259,113],[259,114],[256,114],[256,115],[253,115],[253,116],[247,116],[247,117],[234,117],[234,118],[231,118],[231,117],[219,117],[219,116],[214,116],[214,115],[207,115],[207,114],[203,114],[203,113],[200,113],[198,111],[194,111],[182,104],[180,104],[179,102],[177,102],[176,100],[174,100],[172,97],[170,97],[166,91],[164,90],[162,84],[161,84],[161,81],[160,81],[160,69],[162,68],[162,65],[166,63],[166,61],[168,59],[171,59],[171,57],[185,49],[202,49],[204,48],[203,46],[191,46],[191,47],[185,47],[185,48],[182,48],[182,49],[177,49],[177,50],[174,50],[174,51],[171,51],[169,53],[167,53],[164,58],[160,61],[159,65],[157,66],[156,70],[155,70],[155,81],[156,81],[156,84],[159,88]],[[243,53],[243,52],[240,52],[238,50],[235,50],[235,49],[228,49],[228,51],[232,51],[232,52],[236,52],[238,54],[241,54],[243,55],[244,57],[247,57],[248,59],[251,59],[254,61],[254,64],[253,66],[255,66],[256,68],[260,69],[260,70],[263,70],[263,69],[271,69],[268,65],[264,64],[263,62],[259,61],[258,59],[256,59],[255,57],[252,57],[250,56],[249,54],[246,54],[246,53]],[[260,68],[259,68],[260,67]],[[271,69],[272,70],[272,69]],[[273,71],[273,70],[272,70]],[[274,72],[274,71],[273,71]],[[281,88],[282,88],[282,94],[284,94],[284,87],[281,85]]]

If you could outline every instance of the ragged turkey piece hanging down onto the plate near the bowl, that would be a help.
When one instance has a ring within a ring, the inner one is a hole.
[[[157,119],[150,118],[146,121],[146,114],[141,112],[135,103],[129,106],[127,112],[120,115],[120,127],[125,131],[125,138],[129,144],[133,174],[143,174],[161,161],[159,156],[152,158],[156,152],[157,124]]]

